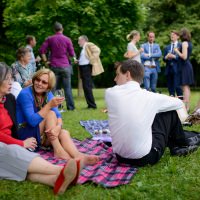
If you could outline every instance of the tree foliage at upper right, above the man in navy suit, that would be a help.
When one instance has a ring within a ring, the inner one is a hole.
[[[200,1],[199,0],[146,0],[148,10],[145,30],[154,30],[163,48],[169,43],[171,30],[188,28],[192,34],[193,59],[200,63]]]

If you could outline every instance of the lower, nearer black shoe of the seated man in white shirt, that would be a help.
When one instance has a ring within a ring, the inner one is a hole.
[[[197,145],[185,146],[185,147],[174,147],[170,149],[172,156],[185,156],[189,153],[192,153],[198,149]]]

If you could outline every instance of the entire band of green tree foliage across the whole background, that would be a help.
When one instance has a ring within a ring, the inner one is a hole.
[[[126,35],[133,29],[141,31],[141,42],[146,41],[147,31],[155,31],[156,41],[164,49],[171,30],[187,27],[192,33],[195,70],[200,64],[199,0],[0,0],[0,3],[1,10],[4,9],[0,60],[7,58],[9,64],[27,34],[36,36],[37,50],[53,34],[55,21],[63,24],[64,34],[72,39],[77,55],[80,50],[77,38],[82,34],[101,48],[106,73],[97,80],[104,87],[112,79],[113,62],[123,59]]]

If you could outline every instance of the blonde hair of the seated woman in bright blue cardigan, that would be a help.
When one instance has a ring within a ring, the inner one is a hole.
[[[49,79],[48,79],[48,90],[52,90],[56,84],[56,77],[55,74],[53,73],[53,71],[51,71],[50,69],[44,68],[44,69],[40,69],[38,70],[32,78],[32,83],[34,84],[35,79],[40,78],[42,75],[47,74]]]

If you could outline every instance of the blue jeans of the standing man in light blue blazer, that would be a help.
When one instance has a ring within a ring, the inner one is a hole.
[[[144,67],[144,88],[156,92],[158,72],[156,68]]]

